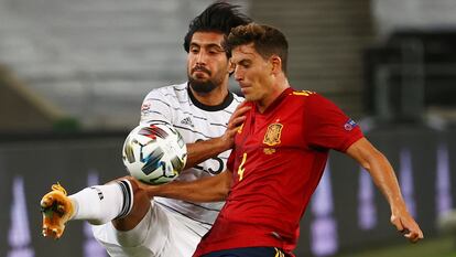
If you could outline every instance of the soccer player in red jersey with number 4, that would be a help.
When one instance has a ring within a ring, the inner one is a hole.
[[[196,183],[150,188],[150,195],[225,200],[194,256],[293,256],[300,219],[330,149],[368,170],[391,207],[391,223],[411,242],[423,233],[410,215],[394,171],[336,105],[286,79],[287,42],[279,30],[241,25],[228,38],[235,78],[251,106],[235,139],[227,171]]]

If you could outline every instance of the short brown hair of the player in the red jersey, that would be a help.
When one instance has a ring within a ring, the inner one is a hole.
[[[273,54],[282,60],[282,71],[286,74],[286,62],[289,56],[289,42],[285,35],[270,25],[249,23],[239,25],[231,30],[227,44],[230,50],[253,43],[254,50],[268,60]]]

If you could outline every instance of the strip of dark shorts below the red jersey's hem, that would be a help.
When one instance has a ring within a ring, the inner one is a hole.
[[[217,250],[203,255],[202,257],[287,257],[290,255],[283,253],[276,247],[245,247],[232,248],[226,250]]]

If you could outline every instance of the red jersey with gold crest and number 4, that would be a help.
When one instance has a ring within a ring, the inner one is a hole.
[[[228,160],[228,199],[194,256],[254,246],[293,250],[328,150],[345,152],[362,137],[355,121],[312,92],[287,88],[262,114],[251,105]]]

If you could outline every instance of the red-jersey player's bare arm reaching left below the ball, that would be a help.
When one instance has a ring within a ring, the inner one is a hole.
[[[231,186],[231,171],[225,170],[218,175],[207,176],[195,181],[173,181],[161,185],[140,186],[149,197],[162,196],[191,202],[224,201]]]

